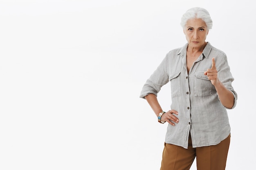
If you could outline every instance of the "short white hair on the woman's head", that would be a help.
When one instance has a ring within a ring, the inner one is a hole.
[[[200,7],[194,7],[187,10],[186,13],[182,15],[180,25],[183,29],[185,29],[186,22],[190,19],[196,18],[203,20],[208,30],[212,28],[212,20],[209,12],[206,9]]]

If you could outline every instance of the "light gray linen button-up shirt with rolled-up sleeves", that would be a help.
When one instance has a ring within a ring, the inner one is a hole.
[[[230,134],[227,108],[225,108],[204,71],[211,68],[215,58],[218,79],[234,94],[234,108],[237,94],[231,85],[234,81],[230,73],[227,56],[208,42],[202,54],[194,62],[189,74],[186,66],[188,44],[167,53],[164,60],[144,84],[140,97],[153,93],[157,95],[161,87],[171,81],[171,109],[180,121],[176,126],[168,124],[165,142],[188,148],[191,132],[193,148],[219,144]]]

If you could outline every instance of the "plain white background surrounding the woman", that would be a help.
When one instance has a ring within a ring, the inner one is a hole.
[[[251,0],[1,0],[0,169],[158,170],[167,124],[139,94],[186,43],[180,18],[191,7],[209,11],[207,41],[227,54],[235,78],[226,170],[252,170]],[[169,110],[169,84],[158,98]]]

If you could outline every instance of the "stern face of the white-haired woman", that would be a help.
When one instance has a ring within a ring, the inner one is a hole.
[[[200,48],[204,45],[209,30],[203,20],[196,18],[186,22],[183,32],[190,47]]]

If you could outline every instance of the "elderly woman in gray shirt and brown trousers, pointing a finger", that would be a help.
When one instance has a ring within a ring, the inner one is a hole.
[[[195,157],[198,170],[225,170],[230,143],[227,109],[236,106],[227,56],[206,42],[212,20],[195,7],[182,16],[183,47],[167,53],[147,79],[141,98],[147,100],[159,123],[168,123],[161,170],[189,170]],[[171,82],[171,110],[157,100]]]

